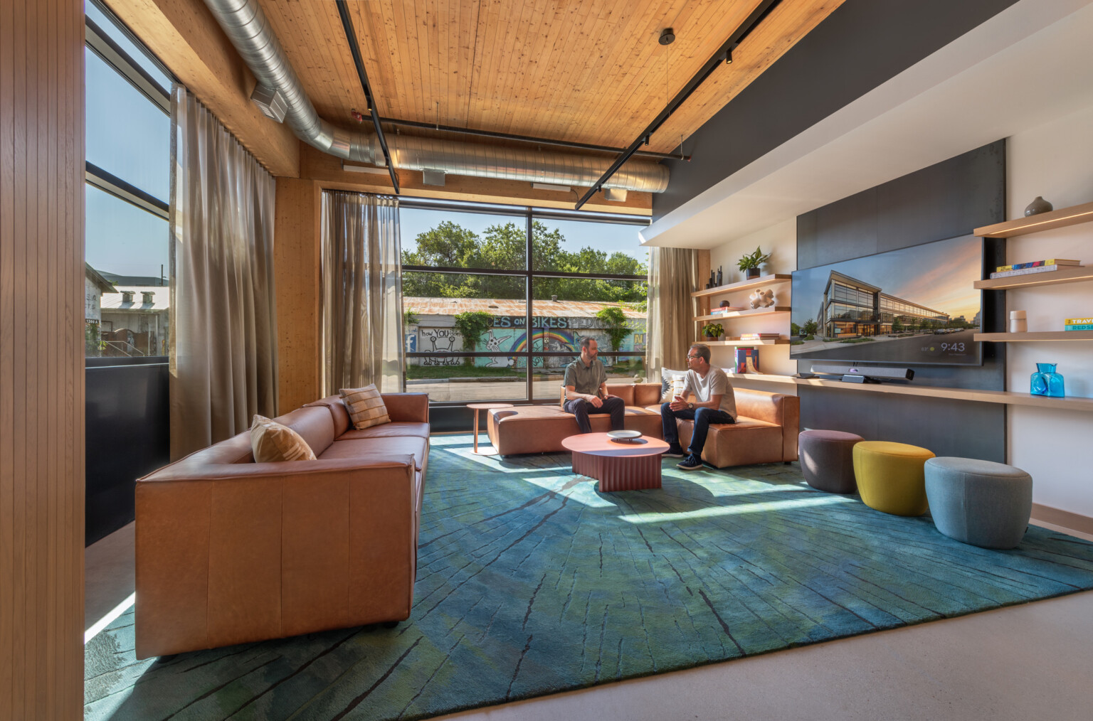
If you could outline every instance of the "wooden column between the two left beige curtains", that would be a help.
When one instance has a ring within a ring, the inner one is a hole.
[[[319,282],[321,190],[313,180],[277,179],[278,413],[322,397]]]

